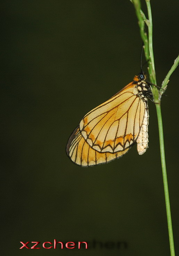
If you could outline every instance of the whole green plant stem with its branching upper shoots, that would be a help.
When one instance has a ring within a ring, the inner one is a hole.
[[[171,212],[170,212],[170,200],[169,200],[169,191],[168,191],[168,182],[167,182],[167,175],[166,175],[166,165],[165,165],[165,151],[164,151],[164,139],[163,139],[163,126],[162,126],[162,114],[161,114],[161,95],[162,91],[164,92],[164,89],[166,89],[167,83],[169,81],[169,77],[172,74],[172,72],[176,69],[179,57],[175,60],[173,66],[171,67],[169,73],[166,75],[165,80],[162,84],[162,89],[160,90],[160,93],[156,87],[156,77],[155,77],[155,65],[154,65],[154,54],[153,54],[153,37],[152,37],[152,11],[150,7],[150,0],[145,0],[147,5],[147,11],[148,11],[148,19],[146,19],[145,14],[140,9],[140,0],[130,0],[136,9],[136,15],[138,17],[139,21],[139,27],[140,27],[140,35],[142,40],[144,41],[144,51],[145,51],[145,57],[148,61],[148,72],[151,83],[154,85],[151,86],[151,90],[153,93],[154,103],[156,106],[157,111],[157,119],[158,119],[158,130],[159,130],[159,138],[160,138],[160,152],[161,152],[161,164],[162,164],[162,174],[163,174],[163,184],[164,184],[164,193],[165,193],[165,203],[166,203],[166,214],[167,214],[167,221],[168,221],[168,230],[169,230],[169,240],[170,240],[170,253],[171,256],[174,256],[174,242],[173,242],[173,233],[172,233],[172,221],[171,221]],[[145,33],[145,23],[148,26],[148,38],[147,34]],[[147,39],[146,39],[147,38]]]

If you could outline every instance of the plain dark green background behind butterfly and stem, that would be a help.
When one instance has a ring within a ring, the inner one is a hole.
[[[156,78],[161,85],[178,54],[179,5],[178,0],[153,0],[151,5]],[[131,2],[7,0],[2,16],[4,255],[168,256],[155,105],[149,102],[149,149],[144,155],[133,146],[107,165],[81,168],[65,153],[68,137],[83,115],[140,71],[142,42]],[[176,70],[162,98],[176,254],[177,94]],[[98,244],[88,250],[19,250],[19,241],[41,241],[42,247],[42,242],[54,239],[96,239],[115,246],[125,241],[127,248]]]

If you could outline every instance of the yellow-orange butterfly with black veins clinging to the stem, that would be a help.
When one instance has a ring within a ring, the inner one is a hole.
[[[77,165],[94,166],[122,157],[137,143],[139,155],[148,148],[148,104],[152,91],[141,71],[133,81],[88,112],[71,134],[68,157]]]

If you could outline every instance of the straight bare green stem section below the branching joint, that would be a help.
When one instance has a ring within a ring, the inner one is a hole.
[[[156,106],[156,111],[157,111],[158,130],[159,130],[159,138],[160,138],[160,153],[161,153],[163,184],[164,184],[164,192],[165,192],[166,214],[167,214],[168,230],[169,230],[170,253],[171,253],[171,256],[174,256],[175,253],[174,253],[174,242],[173,242],[173,232],[172,232],[172,220],[171,220],[171,211],[170,211],[169,190],[168,190],[166,165],[165,165],[165,151],[164,151],[161,106],[160,106],[160,103],[155,104],[155,106]]]

